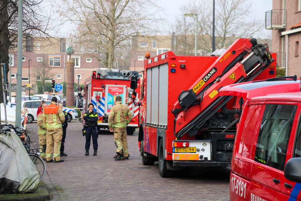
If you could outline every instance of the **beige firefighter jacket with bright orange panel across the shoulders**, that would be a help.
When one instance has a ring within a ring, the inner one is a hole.
[[[62,128],[62,123],[65,121],[65,115],[62,108],[55,104],[55,102],[51,102],[50,105],[44,108],[42,114],[42,121],[43,124],[46,124],[47,130]]]

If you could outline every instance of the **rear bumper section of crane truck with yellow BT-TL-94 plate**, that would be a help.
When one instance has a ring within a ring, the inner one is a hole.
[[[173,166],[229,167],[235,133],[208,133],[206,140],[174,140]]]

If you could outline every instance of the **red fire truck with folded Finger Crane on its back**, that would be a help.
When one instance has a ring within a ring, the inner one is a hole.
[[[237,39],[220,57],[169,51],[147,58],[138,103],[142,163],[158,161],[161,177],[191,167],[229,167],[241,110],[233,97],[218,97],[218,91],[275,77],[275,57],[256,39]],[[138,81],[132,76],[131,88]]]

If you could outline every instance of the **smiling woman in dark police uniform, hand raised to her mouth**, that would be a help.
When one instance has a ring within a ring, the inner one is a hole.
[[[86,136],[85,156],[89,156],[91,135],[92,135],[92,142],[93,142],[93,149],[94,149],[93,156],[97,155],[97,149],[98,149],[97,138],[99,132],[98,125],[97,125],[98,114],[93,110],[94,110],[94,105],[90,103],[88,105],[88,111],[84,114],[84,120],[85,120],[84,130]]]

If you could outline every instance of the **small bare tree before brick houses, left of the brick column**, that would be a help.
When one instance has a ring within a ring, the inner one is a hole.
[[[45,82],[46,80],[50,80],[52,76],[54,76],[54,73],[51,73],[51,68],[48,64],[48,57],[43,54],[42,56],[42,62],[40,62],[40,65],[32,68],[33,74],[40,76],[40,82],[42,84],[43,93],[45,92]]]

